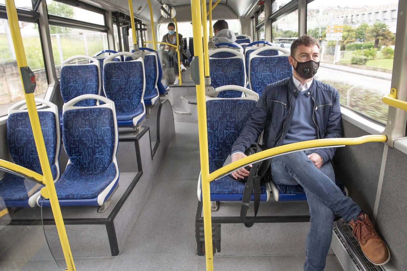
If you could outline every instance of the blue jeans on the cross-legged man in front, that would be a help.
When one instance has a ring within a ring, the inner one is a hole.
[[[320,169],[308,159],[313,150],[284,154],[273,158],[271,175],[278,184],[298,185],[305,191],[311,225],[306,240],[304,270],[324,270],[326,255],[332,239],[334,212],[346,221],[356,218],[361,209],[344,196],[335,184],[335,173],[330,161]]]

